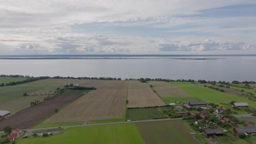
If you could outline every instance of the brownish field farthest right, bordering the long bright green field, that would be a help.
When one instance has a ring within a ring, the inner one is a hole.
[[[165,81],[148,81],[160,97],[193,97],[183,89]]]

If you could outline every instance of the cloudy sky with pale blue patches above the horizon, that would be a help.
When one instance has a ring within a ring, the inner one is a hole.
[[[0,55],[256,54],[256,1],[0,0]]]

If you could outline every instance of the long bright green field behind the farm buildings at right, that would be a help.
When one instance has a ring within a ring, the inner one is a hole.
[[[206,103],[215,103],[220,106],[224,106],[228,109],[232,109],[231,105],[223,105],[220,103],[230,102],[234,100],[236,102],[247,102],[249,106],[256,109],[256,103],[254,101],[244,99],[242,97],[238,97],[237,95],[219,92],[219,91],[216,91],[215,89],[198,86],[191,82],[171,82],[171,83],[175,86],[181,87],[184,91],[188,92],[194,97],[197,97],[203,101],[206,101]],[[247,113],[246,111],[243,111],[243,110],[236,110],[236,112]]]

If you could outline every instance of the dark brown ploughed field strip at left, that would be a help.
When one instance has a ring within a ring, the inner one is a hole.
[[[21,110],[0,122],[0,130],[3,130],[7,125],[10,125],[12,128],[19,129],[31,128],[43,119],[53,115],[55,109],[61,109],[61,107],[71,103],[82,95],[83,94],[57,95],[49,100],[43,101],[42,103],[28,107],[27,109]]]

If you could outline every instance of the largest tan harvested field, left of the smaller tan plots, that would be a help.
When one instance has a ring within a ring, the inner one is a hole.
[[[127,81],[104,81],[97,90],[90,91],[48,122],[82,122],[112,119],[123,116]]]

